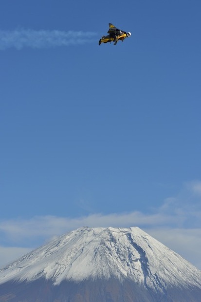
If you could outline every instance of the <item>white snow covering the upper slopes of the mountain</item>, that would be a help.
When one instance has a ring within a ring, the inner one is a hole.
[[[163,291],[201,289],[201,271],[138,227],[82,227],[0,270],[0,284],[125,280]]]

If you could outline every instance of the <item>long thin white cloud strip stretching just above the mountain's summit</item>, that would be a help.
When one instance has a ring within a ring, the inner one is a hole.
[[[31,219],[10,219],[0,222],[0,233],[12,242],[28,238],[51,238],[77,227],[130,227],[160,226],[178,223],[178,217],[164,213],[143,214],[142,212],[91,214],[68,218],[56,216],[36,216]]]

